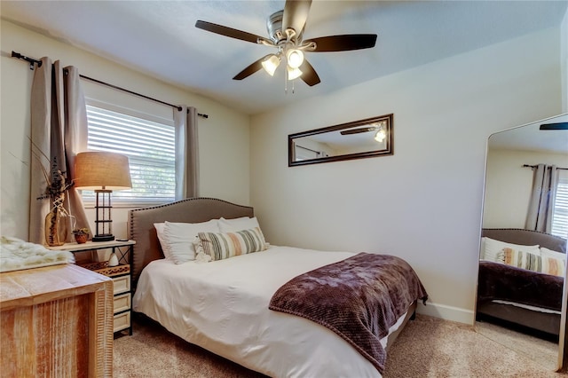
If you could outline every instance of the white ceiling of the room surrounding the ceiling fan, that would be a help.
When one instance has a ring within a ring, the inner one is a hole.
[[[382,75],[560,25],[563,1],[314,0],[304,39],[377,34],[375,48],[308,53],[321,83],[296,80],[284,93],[282,69],[233,81],[272,52],[195,28],[206,20],[267,36],[266,18],[284,8],[271,1],[2,1],[0,14],[20,26],[92,51],[248,114],[335,91]],[[34,58],[34,51],[2,46]],[[51,57],[57,59],[57,57]],[[88,75],[88,73],[84,73]],[[96,77],[105,80],[104,77]],[[151,95],[151,93],[150,93]]]

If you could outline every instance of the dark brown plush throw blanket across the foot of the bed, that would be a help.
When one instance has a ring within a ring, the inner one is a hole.
[[[383,373],[380,340],[417,299],[428,295],[406,261],[362,252],[289,280],[269,308],[331,329]]]

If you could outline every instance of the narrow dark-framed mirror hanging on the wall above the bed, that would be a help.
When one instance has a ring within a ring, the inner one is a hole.
[[[392,117],[328,126],[288,135],[288,167],[392,154]]]

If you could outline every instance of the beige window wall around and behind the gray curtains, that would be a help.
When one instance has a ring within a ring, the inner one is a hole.
[[[195,106],[200,113],[209,114],[209,119],[199,118],[200,194],[241,204],[249,203],[247,114],[241,114],[208,98],[159,82],[128,67],[38,35],[8,21],[0,22],[0,234],[28,238],[29,96],[33,71],[26,62],[10,58],[12,50],[38,59],[43,56],[49,56],[53,60],[59,59],[64,66],[78,67],[83,75],[172,104]],[[96,84],[85,82],[84,91],[87,97],[109,102],[123,100],[128,104],[128,95],[113,93]],[[139,104],[138,99],[137,102]],[[157,106],[150,101],[146,106],[146,109],[152,108],[152,112],[162,114],[170,114],[172,111],[169,106]],[[89,209],[91,217],[92,212],[92,209]],[[127,209],[114,209],[115,235],[125,236],[126,219]],[[91,222],[91,227],[93,225]]]

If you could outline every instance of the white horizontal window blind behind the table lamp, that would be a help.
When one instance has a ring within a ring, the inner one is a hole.
[[[89,151],[114,152],[129,158],[132,189],[113,192],[113,204],[174,201],[176,169],[173,121],[167,124],[146,119],[151,117],[125,113],[87,106]],[[83,191],[83,200],[94,201],[94,193]]]

